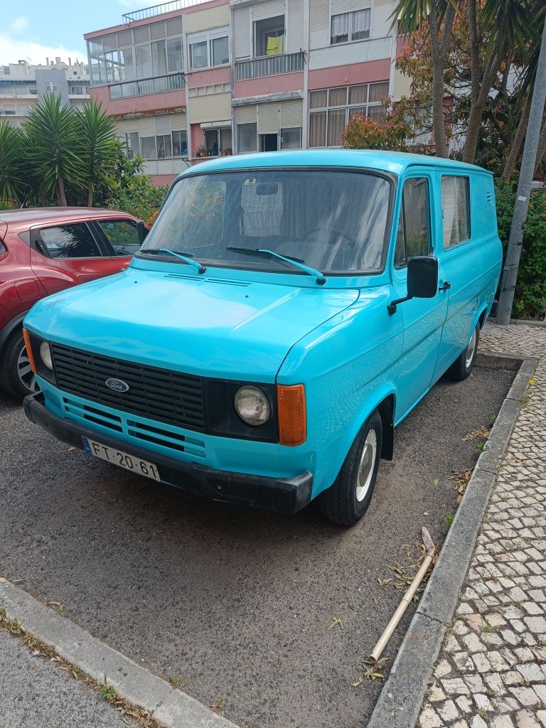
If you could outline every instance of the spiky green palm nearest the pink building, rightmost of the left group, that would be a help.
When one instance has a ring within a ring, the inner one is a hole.
[[[95,100],[87,103],[76,119],[76,153],[82,160],[87,207],[91,207],[96,187],[116,160],[116,126]]]

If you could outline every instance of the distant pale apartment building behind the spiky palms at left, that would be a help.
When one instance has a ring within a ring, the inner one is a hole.
[[[86,63],[68,58],[46,59],[45,65],[31,66],[25,60],[0,66],[0,116],[9,124],[24,124],[31,108],[42,95],[53,92],[76,108],[90,100]]]

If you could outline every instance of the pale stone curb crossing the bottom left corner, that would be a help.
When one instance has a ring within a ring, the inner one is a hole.
[[[65,617],[9,582],[0,584],[0,607],[9,619],[20,622],[27,632],[55,648],[98,683],[114,687],[133,705],[149,711],[166,728],[237,728],[205,705],[165,680],[137,665]]]

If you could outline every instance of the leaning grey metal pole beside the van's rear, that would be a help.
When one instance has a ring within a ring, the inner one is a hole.
[[[502,271],[502,284],[499,295],[499,305],[496,309],[496,323],[506,325],[510,323],[510,314],[514,302],[515,282],[518,280],[518,267],[520,264],[521,245],[523,243],[523,226],[529,210],[529,195],[534,175],[534,162],[537,158],[539,146],[542,114],[546,103],[546,16],[540,44],[537,76],[534,79],[533,98],[529,122],[527,122],[527,135],[523,146],[518,191],[515,195],[514,214],[510,238],[506,250],[505,267]]]

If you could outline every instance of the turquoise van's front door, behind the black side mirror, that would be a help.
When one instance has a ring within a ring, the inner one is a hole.
[[[432,223],[439,213],[433,180],[430,171],[412,169],[403,183],[392,268],[392,285],[400,298],[408,293],[408,258],[435,255],[438,248],[438,226]],[[440,262],[438,267],[441,278]],[[395,316],[403,317],[404,345],[398,368],[397,422],[430,388],[447,308],[443,292],[437,292],[434,298],[412,298],[398,306]]]

